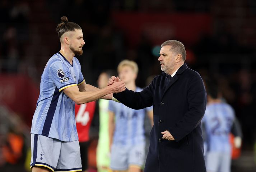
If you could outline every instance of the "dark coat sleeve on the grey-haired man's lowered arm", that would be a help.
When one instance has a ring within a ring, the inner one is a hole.
[[[192,77],[188,85],[187,102],[188,111],[183,118],[169,127],[167,130],[176,141],[180,141],[201,122],[206,108],[206,91],[204,83],[199,74]]]

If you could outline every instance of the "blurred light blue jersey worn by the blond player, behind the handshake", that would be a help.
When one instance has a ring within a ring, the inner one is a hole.
[[[141,90],[141,88],[136,88],[136,92]],[[122,103],[110,101],[108,109],[115,113],[113,144],[126,146],[145,144],[144,118],[146,112],[152,110],[153,106],[135,110]]]

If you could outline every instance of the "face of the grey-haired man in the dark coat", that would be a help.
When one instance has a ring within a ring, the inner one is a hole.
[[[171,46],[163,46],[160,50],[160,56],[158,61],[161,65],[161,70],[169,75],[172,74],[172,71],[176,65],[175,54],[170,51]]]

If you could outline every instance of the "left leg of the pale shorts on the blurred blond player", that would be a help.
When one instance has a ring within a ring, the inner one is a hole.
[[[111,146],[110,169],[112,171],[126,171],[128,169],[128,151],[127,146]]]

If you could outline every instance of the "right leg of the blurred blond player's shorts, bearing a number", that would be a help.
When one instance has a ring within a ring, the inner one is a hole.
[[[145,144],[134,145],[130,148],[128,164],[129,167],[141,169],[145,159]]]

